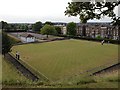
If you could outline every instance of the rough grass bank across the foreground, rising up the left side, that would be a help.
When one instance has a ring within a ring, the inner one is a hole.
[[[2,60],[3,65],[3,87],[31,87],[31,88],[118,88],[118,72],[105,73],[100,76],[79,77],[73,82],[31,82],[22,76],[18,71],[6,60]],[[75,79],[75,78],[74,78]]]

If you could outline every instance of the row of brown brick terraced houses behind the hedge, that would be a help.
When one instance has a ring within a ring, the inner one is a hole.
[[[76,34],[81,37],[101,37],[118,40],[118,27],[114,27],[109,23],[87,23],[78,24]]]

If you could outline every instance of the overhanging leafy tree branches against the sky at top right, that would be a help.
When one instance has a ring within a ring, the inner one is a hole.
[[[114,22],[120,18],[114,13],[114,8],[120,4],[116,2],[71,2],[66,7],[65,15],[78,16],[81,23],[87,23],[88,20],[101,19],[103,16],[110,17]],[[97,12],[96,12],[97,11]],[[118,23],[117,23],[118,25]]]

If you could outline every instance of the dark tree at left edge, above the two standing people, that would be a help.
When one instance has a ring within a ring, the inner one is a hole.
[[[5,32],[2,32],[2,54],[5,55],[6,53],[10,52],[12,47],[12,42],[8,35]]]

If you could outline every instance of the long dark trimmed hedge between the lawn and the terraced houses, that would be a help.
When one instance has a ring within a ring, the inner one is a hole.
[[[101,42],[102,40],[105,40],[105,42],[112,43],[112,44],[120,44],[119,40],[111,40],[111,39],[101,39],[101,38],[90,38],[90,37],[79,37],[79,36],[68,36],[68,35],[57,35],[60,37],[65,37],[65,38],[73,38],[73,39],[81,39],[81,40],[88,40],[88,41],[96,41],[96,42]]]

